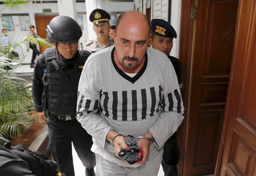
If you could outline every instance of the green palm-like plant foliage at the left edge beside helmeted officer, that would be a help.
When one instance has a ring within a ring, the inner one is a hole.
[[[34,37],[15,37],[8,47],[0,47],[0,136],[12,139],[21,136],[32,123],[32,100],[26,80],[16,77],[13,68],[16,60],[26,57],[27,43],[51,47],[47,41]],[[14,49],[20,47],[19,54]],[[25,82],[25,83],[24,83]],[[0,141],[1,144],[1,141]]]

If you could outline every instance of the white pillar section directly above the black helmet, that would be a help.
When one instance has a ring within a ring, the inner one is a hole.
[[[59,7],[59,15],[69,16],[77,19],[76,0],[57,0]]]

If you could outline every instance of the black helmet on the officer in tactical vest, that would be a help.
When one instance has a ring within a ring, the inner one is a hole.
[[[46,28],[49,42],[74,43],[79,41],[82,30],[79,24],[69,16],[56,16]]]

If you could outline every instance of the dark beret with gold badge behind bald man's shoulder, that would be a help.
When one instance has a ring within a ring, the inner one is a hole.
[[[151,20],[151,32],[161,37],[177,37],[174,27],[163,19]]]

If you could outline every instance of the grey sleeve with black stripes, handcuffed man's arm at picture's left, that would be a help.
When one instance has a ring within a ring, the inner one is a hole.
[[[93,75],[90,73],[93,69],[89,67],[86,62],[79,81],[77,120],[101,147],[105,148],[106,135],[110,131],[110,126],[99,114],[101,92],[94,85]]]

